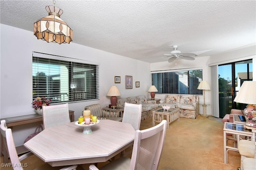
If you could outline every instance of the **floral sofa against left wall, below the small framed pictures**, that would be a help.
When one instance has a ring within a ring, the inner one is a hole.
[[[124,103],[142,104],[141,121],[152,117],[152,112],[159,108],[159,104],[156,104],[156,101],[148,101],[146,99],[146,96],[143,95],[127,98],[118,98],[117,106],[124,107]]]

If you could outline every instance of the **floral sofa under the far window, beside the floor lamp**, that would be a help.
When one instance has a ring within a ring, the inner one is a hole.
[[[161,106],[180,109],[180,117],[196,119],[199,115],[199,96],[194,94],[166,94]]]

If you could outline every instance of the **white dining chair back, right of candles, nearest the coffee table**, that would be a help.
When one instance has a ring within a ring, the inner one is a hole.
[[[142,104],[124,103],[123,123],[130,123],[134,130],[140,129]]]

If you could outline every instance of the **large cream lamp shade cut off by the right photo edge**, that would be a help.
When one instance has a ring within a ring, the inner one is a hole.
[[[234,102],[256,104],[256,81],[244,81]]]

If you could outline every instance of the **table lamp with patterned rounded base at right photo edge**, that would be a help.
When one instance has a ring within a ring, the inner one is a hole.
[[[256,81],[244,81],[234,102],[248,104],[244,109],[246,126],[256,127]]]

